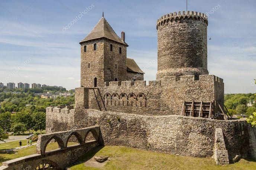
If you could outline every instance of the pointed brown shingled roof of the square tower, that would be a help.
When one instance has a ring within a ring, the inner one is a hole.
[[[83,40],[81,40],[80,43],[102,37],[127,45],[127,43],[125,43],[118,35],[116,35],[115,31],[104,17],[99,20],[92,31]]]

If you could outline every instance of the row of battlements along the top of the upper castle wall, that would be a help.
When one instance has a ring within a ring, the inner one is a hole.
[[[166,82],[215,81],[223,83],[223,79],[215,75],[199,75],[199,77],[195,75],[166,76],[166,78]],[[134,83],[132,81],[111,81],[104,82],[104,86],[161,86],[165,81],[148,81],[148,85],[146,85],[146,81],[134,81]]]

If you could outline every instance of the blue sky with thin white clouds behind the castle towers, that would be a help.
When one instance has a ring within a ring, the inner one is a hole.
[[[186,10],[185,2],[1,0],[0,81],[79,87],[79,42],[93,29],[102,11],[119,36],[125,31],[127,56],[143,68],[157,58],[157,19]],[[84,10],[86,14],[71,24]],[[255,92],[256,1],[188,0],[188,10],[209,14],[208,71],[224,79],[225,93]],[[157,62],[145,72],[145,80],[156,79]]]

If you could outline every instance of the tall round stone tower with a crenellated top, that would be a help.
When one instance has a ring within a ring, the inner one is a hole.
[[[208,74],[207,26],[207,16],[192,11],[166,14],[157,20],[158,80]]]

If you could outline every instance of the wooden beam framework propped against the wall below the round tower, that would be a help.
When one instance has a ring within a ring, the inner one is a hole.
[[[227,108],[217,101],[184,101],[180,115],[217,120],[231,120]]]

